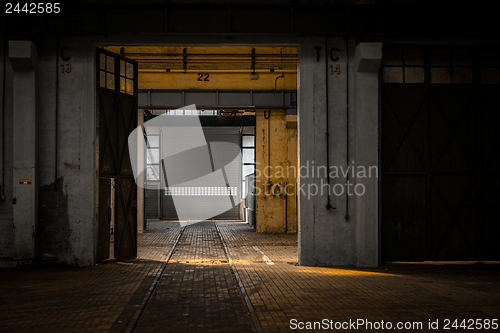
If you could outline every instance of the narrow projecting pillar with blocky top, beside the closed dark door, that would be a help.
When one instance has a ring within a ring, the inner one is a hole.
[[[357,45],[354,56],[356,105],[353,159],[356,166],[367,168],[367,172],[371,171],[371,174],[368,173],[366,177],[355,177],[356,185],[360,184],[359,190],[364,189],[363,195],[355,196],[355,264],[359,267],[375,267],[379,264],[377,171],[379,166],[378,80],[381,61],[382,43]]]

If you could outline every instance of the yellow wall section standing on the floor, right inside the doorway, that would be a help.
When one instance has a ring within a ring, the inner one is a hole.
[[[288,120],[284,110],[256,115],[257,232],[297,232],[297,128]]]

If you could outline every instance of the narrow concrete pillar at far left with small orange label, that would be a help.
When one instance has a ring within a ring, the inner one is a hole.
[[[13,196],[14,259],[32,263],[37,221],[37,52],[30,41],[9,41],[14,70]]]

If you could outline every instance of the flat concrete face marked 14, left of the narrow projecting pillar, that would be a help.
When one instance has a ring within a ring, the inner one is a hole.
[[[311,39],[299,47],[301,265],[354,264],[354,226],[345,219],[345,179],[342,172],[338,177],[331,174],[347,164],[347,47],[344,38]]]

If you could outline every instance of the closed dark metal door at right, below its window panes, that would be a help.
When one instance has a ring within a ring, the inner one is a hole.
[[[383,90],[383,259],[477,259],[475,86]]]

